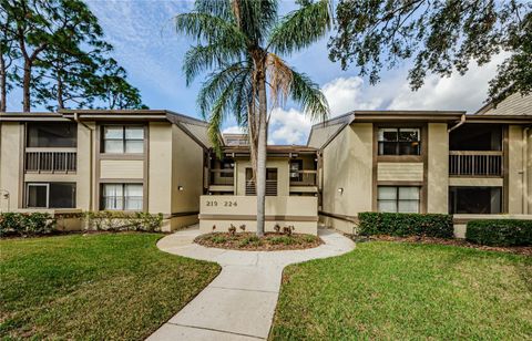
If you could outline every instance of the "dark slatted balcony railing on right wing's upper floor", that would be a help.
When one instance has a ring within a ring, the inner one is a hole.
[[[449,175],[454,176],[502,176],[501,151],[450,151]]]

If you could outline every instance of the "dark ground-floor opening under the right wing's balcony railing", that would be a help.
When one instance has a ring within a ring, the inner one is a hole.
[[[502,187],[449,187],[450,214],[500,214]]]

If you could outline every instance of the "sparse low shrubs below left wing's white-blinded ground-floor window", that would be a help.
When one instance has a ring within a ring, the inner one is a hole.
[[[160,231],[163,223],[163,214],[150,214],[144,211],[89,211],[85,214],[88,228],[103,231]]]

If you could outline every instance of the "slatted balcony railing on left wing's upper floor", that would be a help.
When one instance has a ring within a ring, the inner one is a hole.
[[[75,173],[75,148],[27,148],[25,172],[28,173]]]

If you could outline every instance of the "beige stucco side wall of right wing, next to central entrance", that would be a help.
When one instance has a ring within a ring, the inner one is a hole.
[[[372,135],[371,123],[351,124],[324,149],[323,211],[355,217],[371,210]],[[324,218],[335,228],[350,226],[337,220]]]

